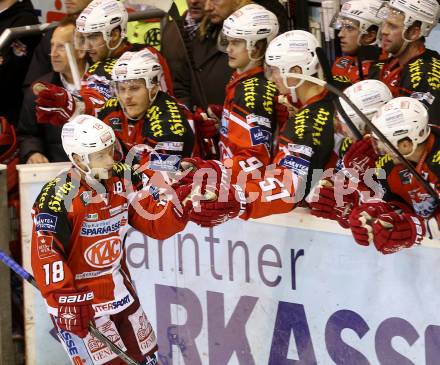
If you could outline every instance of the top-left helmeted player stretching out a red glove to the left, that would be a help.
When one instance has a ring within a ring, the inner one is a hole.
[[[126,51],[137,51],[143,45],[132,45],[126,40],[128,14],[122,2],[94,0],[76,20],[75,48],[87,51],[94,62],[82,77],[81,97],[64,88],[44,84],[38,93],[37,119],[41,123],[64,124],[82,113],[96,115],[106,100],[113,95],[111,73],[117,59]],[[160,80],[163,90],[173,92],[171,75],[162,55],[153,47],[163,69]]]

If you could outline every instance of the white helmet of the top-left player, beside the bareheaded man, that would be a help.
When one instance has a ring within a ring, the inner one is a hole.
[[[124,4],[118,0],[93,0],[76,19],[78,33],[102,33],[109,49],[116,49],[127,35],[128,13]],[[119,43],[110,47],[111,32],[121,28]],[[78,47],[80,48],[80,47]]]

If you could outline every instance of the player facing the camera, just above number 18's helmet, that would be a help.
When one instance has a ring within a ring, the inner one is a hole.
[[[148,50],[124,53],[112,71],[116,97],[98,114],[115,131],[125,155],[134,147],[144,164],[152,154],[152,166],[171,155],[190,157],[195,149],[191,113],[162,91],[162,74]]]

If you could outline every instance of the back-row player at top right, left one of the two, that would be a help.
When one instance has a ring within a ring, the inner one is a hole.
[[[381,23],[377,11],[381,5],[380,0],[347,1],[330,23],[332,28],[339,31],[338,38],[343,53],[332,67],[333,80],[341,89],[367,78],[371,62],[384,57],[376,46]],[[368,55],[359,55],[367,49]],[[358,56],[362,57],[362,68]]]

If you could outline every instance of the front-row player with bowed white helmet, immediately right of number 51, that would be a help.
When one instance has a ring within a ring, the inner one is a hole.
[[[378,80],[359,81],[346,88],[344,94],[370,120],[378,108],[392,99],[391,91]],[[355,111],[342,98],[339,101],[359,132],[362,135],[370,133],[368,126]],[[335,174],[321,180],[309,200],[313,215],[336,220],[343,228],[348,228],[348,216],[351,210],[358,205],[361,191],[370,190],[364,177],[368,168],[374,168],[375,161],[369,155],[375,155],[375,153],[371,137],[366,136],[355,141],[353,132],[348,128],[339,112],[336,116],[336,129],[334,154],[338,161],[336,162]],[[338,174],[338,172],[340,173]],[[371,196],[374,195],[374,191],[370,193]]]

